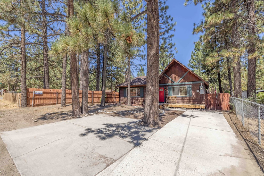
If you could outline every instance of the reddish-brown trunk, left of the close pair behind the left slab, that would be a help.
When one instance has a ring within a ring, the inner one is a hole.
[[[68,15],[69,17],[74,16],[73,0],[68,0]],[[79,80],[76,62],[76,53],[70,53],[70,85],[72,88],[72,115],[81,115],[81,107],[79,102]]]

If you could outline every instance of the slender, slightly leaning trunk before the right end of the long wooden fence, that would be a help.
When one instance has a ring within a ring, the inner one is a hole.
[[[106,61],[107,61],[107,40],[104,44],[104,53],[103,53],[103,82],[102,82],[102,98],[100,107],[105,106],[105,84],[106,84]]]

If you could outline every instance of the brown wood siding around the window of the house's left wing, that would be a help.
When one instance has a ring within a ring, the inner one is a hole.
[[[124,97],[124,89],[125,88],[120,88],[119,89],[119,102],[121,104],[128,104],[128,97]],[[145,94],[146,94],[146,87],[143,87],[143,92],[144,92],[144,97],[131,97],[131,104],[135,106],[142,106],[145,100]]]

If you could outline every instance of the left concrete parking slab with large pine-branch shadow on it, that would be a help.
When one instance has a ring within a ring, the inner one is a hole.
[[[0,133],[21,175],[95,175],[157,129],[95,115]]]

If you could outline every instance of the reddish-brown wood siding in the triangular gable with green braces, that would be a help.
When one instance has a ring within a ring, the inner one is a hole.
[[[178,64],[177,62],[172,63],[172,65],[169,67],[168,70],[166,70],[164,73],[168,75],[172,80],[174,80],[176,83],[178,80],[187,72],[188,70]],[[195,81],[201,81],[199,78],[197,78],[194,74],[191,72],[188,72],[182,80],[180,80],[180,83],[183,82],[195,82]],[[160,78],[159,84],[166,84],[166,83],[173,83],[169,78],[167,78],[165,75]]]

